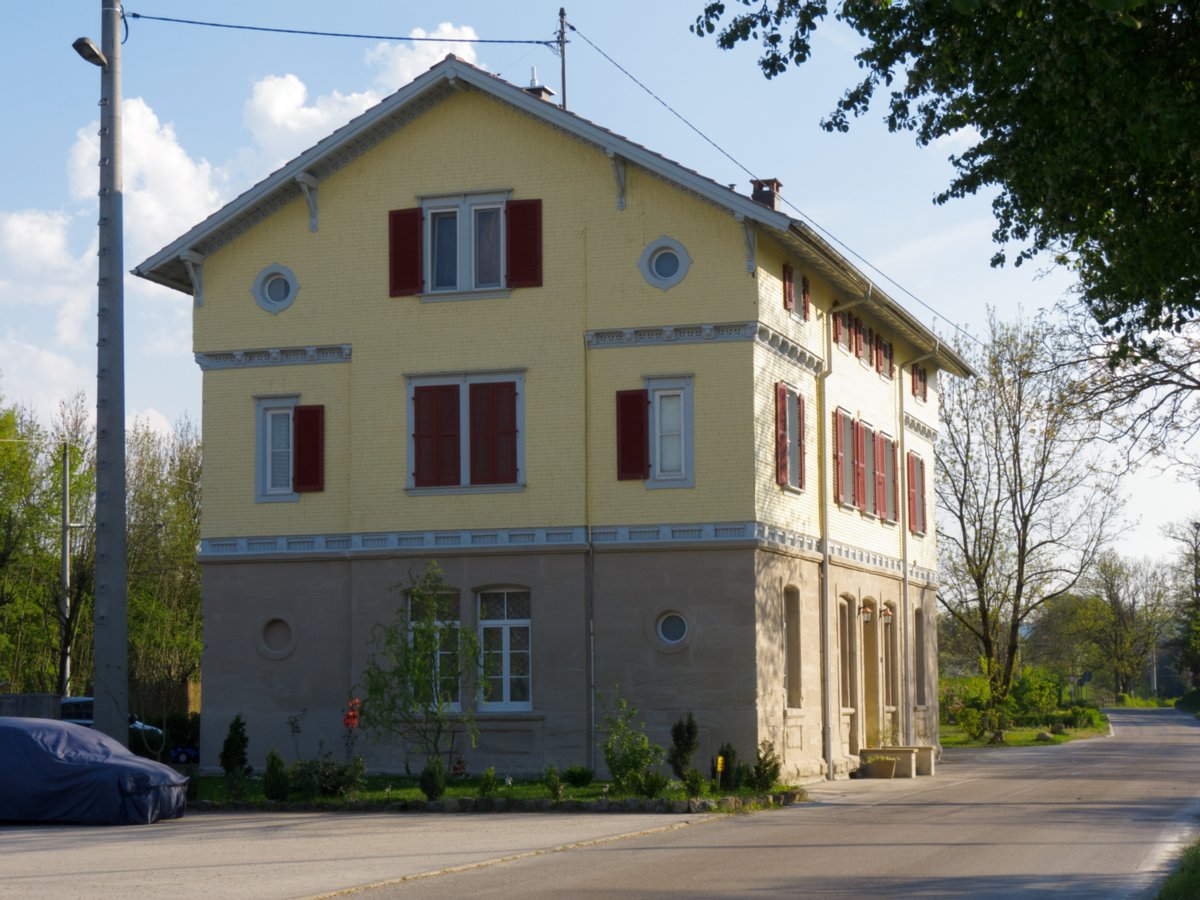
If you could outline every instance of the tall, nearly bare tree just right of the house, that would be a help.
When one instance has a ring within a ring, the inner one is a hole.
[[[1075,589],[1117,508],[1116,476],[1042,319],[990,318],[979,378],[942,385],[936,448],[943,608],[976,640],[994,704],[1037,612]]]

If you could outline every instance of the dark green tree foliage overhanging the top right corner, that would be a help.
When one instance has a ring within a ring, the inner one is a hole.
[[[738,12],[726,20],[726,7]],[[768,78],[812,53],[828,0],[708,2],[691,26],[758,41]],[[1074,266],[1118,358],[1200,313],[1200,7],[1192,0],[845,0],[863,79],[822,122],[846,131],[877,91],[922,146],[976,136],[937,196],[996,190],[994,238]]]

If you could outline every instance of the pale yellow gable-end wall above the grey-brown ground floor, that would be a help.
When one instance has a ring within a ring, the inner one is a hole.
[[[389,210],[428,194],[494,190],[542,199],[544,287],[490,300],[388,296]],[[206,481],[205,536],[582,523],[586,408],[594,412],[592,481],[599,493],[622,498],[616,505],[599,500],[607,521],[752,515],[751,474],[738,486],[726,472],[734,456],[752,454],[754,409],[744,392],[750,344],[594,352],[598,380],[584,401],[587,329],[755,318],[757,288],[732,215],[634,166],[626,209],[618,211],[600,149],[472,91],[324,180],[319,214],[319,230],[311,233],[298,197],[205,259],[198,352],[353,347],[349,364],[206,373],[205,450],[210,473],[221,474]],[[686,278],[668,292],[648,284],[637,268],[647,244],[664,235],[692,258]],[[259,308],[251,294],[254,277],[272,263],[289,266],[299,283],[294,304],[278,314]],[[406,376],[510,368],[524,372],[524,490],[410,496]],[[641,386],[642,372],[694,373],[697,419],[744,420],[744,427],[698,430],[695,490],[616,484],[610,409],[618,383]],[[326,409],[326,491],[292,504],[256,504],[253,395],[299,391],[307,403],[326,379],[344,384]],[[740,450],[722,445],[731,440],[742,440]]]

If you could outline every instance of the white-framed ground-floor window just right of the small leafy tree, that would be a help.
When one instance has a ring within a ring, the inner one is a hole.
[[[528,590],[479,594],[481,710],[533,708],[532,629]]]

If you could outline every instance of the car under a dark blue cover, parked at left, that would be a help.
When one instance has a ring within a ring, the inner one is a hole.
[[[92,728],[0,716],[0,821],[150,824],[179,818],[187,778]]]

